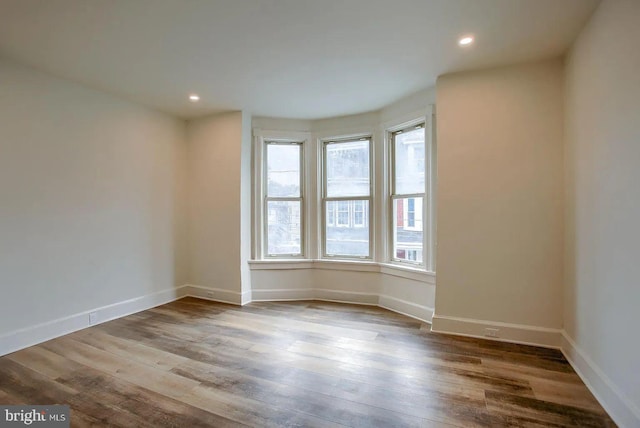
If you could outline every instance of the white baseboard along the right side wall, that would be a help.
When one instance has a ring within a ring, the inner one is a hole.
[[[620,392],[613,381],[564,330],[560,349],[589,391],[618,426],[640,427],[640,409]]]

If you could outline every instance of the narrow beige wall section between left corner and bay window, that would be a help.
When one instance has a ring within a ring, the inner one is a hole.
[[[234,112],[190,121],[187,130],[189,282],[214,290],[206,297],[239,304],[250,288],[248,124]]]

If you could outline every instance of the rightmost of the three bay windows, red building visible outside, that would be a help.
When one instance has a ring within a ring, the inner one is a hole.
[[[424,265],[424,124],[391,133],[391,259]]]

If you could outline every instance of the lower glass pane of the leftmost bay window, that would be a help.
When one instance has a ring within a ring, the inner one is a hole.
[[[300,254],[300,201],[267,202],[267,253]]]

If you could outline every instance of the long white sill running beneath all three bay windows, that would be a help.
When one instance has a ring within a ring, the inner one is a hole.
[[[354,272],[377,272],[435,285],[436,274],[412,266],[359,260],[278,259],[249,260],[253,270],[324,269]]]

